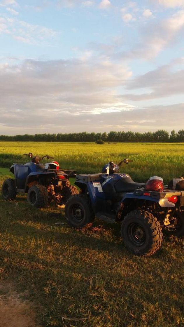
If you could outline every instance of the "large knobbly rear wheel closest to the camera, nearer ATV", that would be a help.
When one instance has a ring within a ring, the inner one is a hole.
[[[159,250],[162,231],[157,218],[143,210],[128,213],[121,226],[125,247],[137,255],[149,256]]]

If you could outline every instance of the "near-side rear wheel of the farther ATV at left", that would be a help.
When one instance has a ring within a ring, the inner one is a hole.
[[[32,207],[43,208],[48,204],[49,195],[47,189],[43,185],[31,186],[27,193],[27,202]]]

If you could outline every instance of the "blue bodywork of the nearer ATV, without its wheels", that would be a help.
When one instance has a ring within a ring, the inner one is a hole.
[[[127,203],[146,203],[151,206],[158,204],[159,211],[179,209],[184,206],[184,191],[164,189],[162,192],[146,191],[144,183],[132,181],[128,174],[115,173],[107,176],[105,173],[77,175],[75,185],[81,188],[82,193],[88,193],[91,199],[93,213],[107,222],[122,219],[128,213]],[[177,196],[177,203],[168,198]],[[151,203],[151,204],[150,204]],[[121,208],[125,209],[122,210]],[[122,215],[120,215],[122,212]]]

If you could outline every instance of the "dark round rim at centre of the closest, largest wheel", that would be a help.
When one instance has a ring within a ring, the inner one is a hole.
[[[146,241],[145,230],[137,223],[132,223],[128,226],[128,236],[135,246],[142,246]]]

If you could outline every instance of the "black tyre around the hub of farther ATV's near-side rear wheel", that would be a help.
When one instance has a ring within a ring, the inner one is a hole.
[[[31,204],[29,201],[29,194],[33,190],[35,192],[37,192],[37,201],[36,201],[36,204],[34,204],[34,205]],[[32,206],[37,207],[37,208],[44,208],[47,206],[48,200],[49,200],[49,195],[48,195],[48,192],[47,192],[47,189],[45,186],[37,184],[37,185],[31,186],[30,189],[28,190],[27,201]]]

